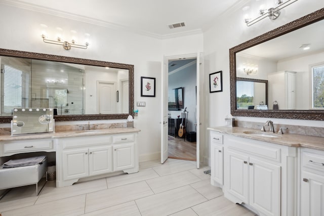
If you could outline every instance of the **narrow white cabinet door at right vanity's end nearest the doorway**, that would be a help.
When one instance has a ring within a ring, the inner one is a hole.
[[[212,180],[223,185],[223,146],[212,143]]]

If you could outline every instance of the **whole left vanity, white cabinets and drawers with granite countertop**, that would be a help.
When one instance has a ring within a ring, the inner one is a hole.
[[[116,171],[138,172],[136,128],[108,128],[23,136],[0,136],[0,157],[30,152],[56,153],[56,187]]]

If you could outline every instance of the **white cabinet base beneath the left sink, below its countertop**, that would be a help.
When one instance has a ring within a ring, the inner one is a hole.
[[[59,138],[57,144],[57,187],[114,171],[139,170],[135,133]]]

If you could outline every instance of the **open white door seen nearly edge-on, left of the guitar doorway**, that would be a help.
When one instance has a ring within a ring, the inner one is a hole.
[[[161,73],[161,163],[168,159],[168,59],[165,57]]]

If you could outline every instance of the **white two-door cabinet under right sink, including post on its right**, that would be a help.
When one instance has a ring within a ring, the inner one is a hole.
[[[297,149],[230,135],[223,143],[225,197],[260,215],[294,215]]]

